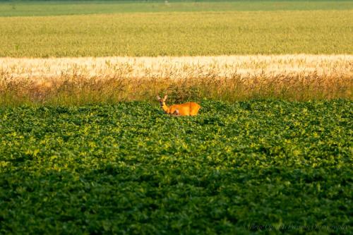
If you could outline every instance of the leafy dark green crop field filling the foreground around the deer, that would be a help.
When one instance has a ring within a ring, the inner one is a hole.
[[[1,108],[0,233],[352,231],[353,102],[201,105]]]

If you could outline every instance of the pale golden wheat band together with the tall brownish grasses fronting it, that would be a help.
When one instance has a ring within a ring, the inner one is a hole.
[[[3,104],[352,99],[352,55],[0,58]]]

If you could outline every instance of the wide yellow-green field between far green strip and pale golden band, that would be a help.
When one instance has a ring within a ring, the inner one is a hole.
[[[353,11],[2,17],[0,56],[352,54]]]

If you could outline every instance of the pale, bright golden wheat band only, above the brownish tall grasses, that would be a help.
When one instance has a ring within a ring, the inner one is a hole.
[[[353,55],[78,57],[52,59],[0,58],[1,74],[30,80],[84,78],[173,78],[214,76],[347,76]]]

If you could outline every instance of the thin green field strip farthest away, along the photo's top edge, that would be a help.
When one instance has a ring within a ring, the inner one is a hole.
[[[352,1],[0,1],[0,16],[133,12],[352,10]]]

